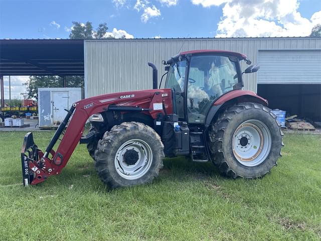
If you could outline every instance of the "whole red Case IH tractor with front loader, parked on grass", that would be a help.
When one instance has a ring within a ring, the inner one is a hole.
[[[242,72],[243,60],[251,64],[245,55],[230,51],[183,52],[163,61],[165,88],[157,89],[157,69],[148,63],[153,89],[73,103],[45,152],[37,148],[32,133],[25,136],[24,185],[59,174],[78,142],[87,144],[98,176],[111,188],[151,182],[165,156],[212,161],[232,178],[264,176],[281,156],[283,134],[267,101],[242,90],[242,74],[259,69],[252,65]],[[88,119],[92,128],[83,136]]]

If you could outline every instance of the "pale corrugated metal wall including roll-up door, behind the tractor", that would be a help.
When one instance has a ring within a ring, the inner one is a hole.
[[[195,49],[241,52],[260,63],[258,74],[244,76],[245,89],[257,84],[321,83],[321,38],[197,38],[85,40],[85,97],[152,87],[151,69],[164,71],[162,60]],[[246,64],[242,63],[244,69]]]

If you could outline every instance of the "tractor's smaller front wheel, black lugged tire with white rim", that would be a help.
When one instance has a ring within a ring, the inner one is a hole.
[[[163,149],[161,138],[152,128],[125,122],[98,141],[95,168],[111,188],[150,183],[163,167]]]

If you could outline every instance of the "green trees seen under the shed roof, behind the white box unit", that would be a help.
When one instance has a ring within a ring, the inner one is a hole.
[[[83,76],[66,76],[66,87],[84,87]],[[27,93],[22,93],[24,98],[36,98],[38,100],[38,88],[64,87],[64,79],[59,76],[30,76],[24,83]]]

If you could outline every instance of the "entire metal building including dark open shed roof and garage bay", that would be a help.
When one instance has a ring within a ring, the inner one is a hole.
[[[162,60],[179,52],[221,49],[241,52],[261,69],[244,75],[245,89],[270,108],[308,117],[321,125],[321,38],[196,38],[112,40],[0,40],[0,86],[5,75],[84,75],[85,97],[152,87],[165,73]],[[243,69],[247,65],[242,62]],[[65,83],[66,84],[66,83]]]

